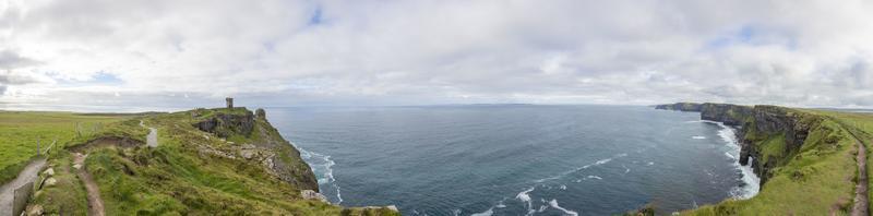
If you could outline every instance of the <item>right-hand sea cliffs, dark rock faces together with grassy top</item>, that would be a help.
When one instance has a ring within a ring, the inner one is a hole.
[[[677,110],[687,105],[656,108]],[[750,200],[728,200],[683,212],[690,215],[835,214],[851,206],[854,139],[836,119],[816,111],[777,106],[701,104],[701,119],[734,127],[740,164],[761,178]],[[786,208],[784,206],[798,206]],[[793,208],[809,209],[796,212]],[[821,214],[820,214],[821,213]]]

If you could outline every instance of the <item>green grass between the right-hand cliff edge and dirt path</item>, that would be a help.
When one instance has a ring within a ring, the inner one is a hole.
[[[799,110],[798,110],[799,111]],[[808,112],[808,111],[801,111]],[[873,125],[873,124],[871,124]],[[851,207],[854,141],[834,119],[812,129],[799,153],[787,155],[773,178],[750,200],[728,200],[683,215],[838,215]],[[763,136],[764,157],[785,154],[782,134]],[[779,142],[782,142],[781,144]],[[768,158],[762,158],[768,159]]]

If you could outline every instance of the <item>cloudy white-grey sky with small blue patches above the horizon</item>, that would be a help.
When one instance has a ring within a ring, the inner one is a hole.
[[[873,1],[0,0],[0,109],[873,107]]]

